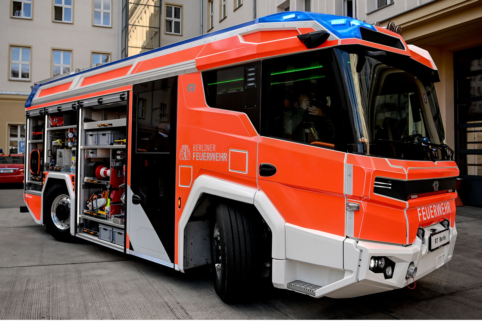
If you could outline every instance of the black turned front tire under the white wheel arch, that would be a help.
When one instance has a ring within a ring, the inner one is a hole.
[[[212,229],[214,290],[226,303],[244,300],[260,279],[258,226],[243,203],[220,204]]]

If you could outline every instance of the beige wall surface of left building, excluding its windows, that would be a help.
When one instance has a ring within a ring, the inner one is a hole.
[[[0,148],[8,150],[8,122],[25,122],[26,93],[34,81],[52,76],[52,49],[72,51],[71,70],[92,64],[92,51],[119,58],[119,5],[111,1],[111,27],[93,26],[94,0],[72,0],[73,23],[54,20],[54,1],[33,0],[32,19],[11,17],[12,0],[0,1]],[[31,48],[30,81],[9,80],[9,44]],[[23,93],[11,95],[9,92]]]

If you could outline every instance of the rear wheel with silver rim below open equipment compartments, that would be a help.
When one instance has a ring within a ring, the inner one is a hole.
[[[70,196],[64,184],[54,184],[43,204],[43,219],[47,231],[57,241],[72,242],[70,235]]]

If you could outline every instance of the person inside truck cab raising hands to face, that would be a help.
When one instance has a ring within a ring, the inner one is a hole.
[[[294,141],[334,143],[335,126],[327,115],[326,98],[322,102],[310,99],[306,93],[293,99],[293,104],[283,115],[284,136]]]

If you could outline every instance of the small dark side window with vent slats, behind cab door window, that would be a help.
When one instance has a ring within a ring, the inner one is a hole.
[[[206,103],[213,108],[245,113],[259,132],[260,64],[202,73]]]

